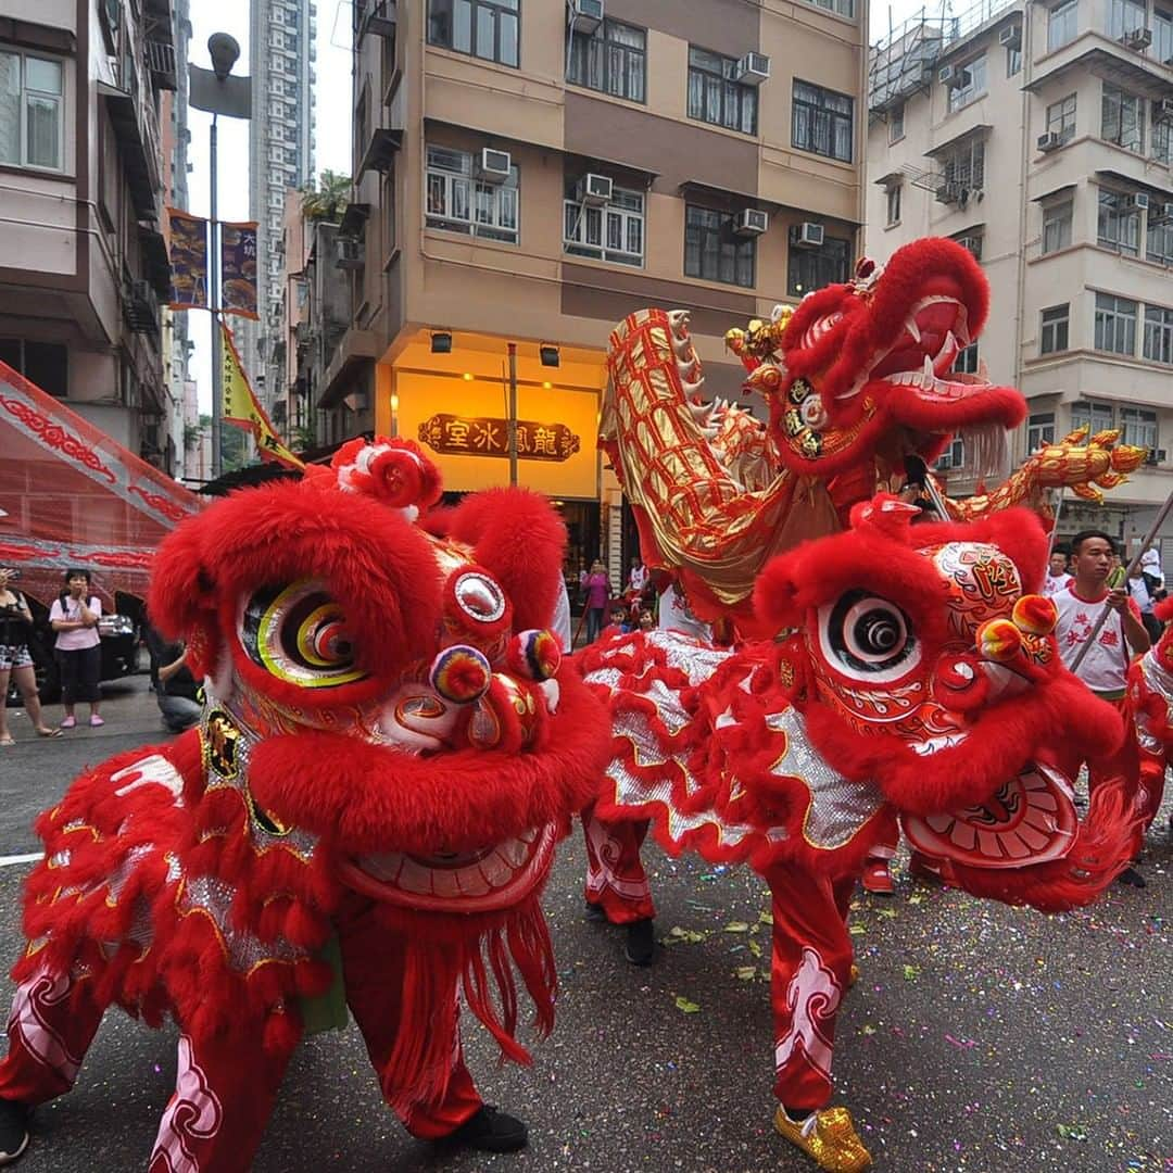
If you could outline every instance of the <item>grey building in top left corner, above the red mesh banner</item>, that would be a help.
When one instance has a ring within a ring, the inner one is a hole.
[[[0,14],[0,359],[162,467],[172,26],[171,0]]]

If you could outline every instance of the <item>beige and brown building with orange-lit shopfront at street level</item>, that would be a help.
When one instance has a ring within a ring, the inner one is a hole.
[[[613,554],[619,510],[599,503],[618,490],[595,447],[612,325],[691,307],[710,393],[735,395],[725,330],[852,267],[866,4],[359,0],[354,15],[337,245],[353,321],[314,407],[350,399],[357,426],[420,439],[448,489],[506,483],[514,343],[518,480],[565,503],[578,552]]]

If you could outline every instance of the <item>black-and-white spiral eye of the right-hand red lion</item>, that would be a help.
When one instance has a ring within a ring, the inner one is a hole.
[[[908,616],[863,590],[848,591],[820,609],[819,644],[832,667],[857,680],[896,680],[921,659]]]

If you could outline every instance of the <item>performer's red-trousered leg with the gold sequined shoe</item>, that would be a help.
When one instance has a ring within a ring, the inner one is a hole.
[[[855,1173],[870,1157],[846,1108],[826,1108],[835,1017],[850,984],[845,924],[850,887],[794,868],[766,875],[773,896],[774,1127],[825,1169]]]

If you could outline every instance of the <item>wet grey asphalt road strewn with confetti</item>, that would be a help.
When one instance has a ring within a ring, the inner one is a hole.
[[[29,740],[27,721],[14,720],[20,744],[0,751],[0,855],[35,850],[32,815],[81,765],[158,738],[141,678],[106,714],[106,728],[54,741]],[[536,1043],[531,1069],[501,1069],[466,1016],[469,1066],[488,1100],[528,1120],[528,1152],[454,1155],[412,1140],[382,1106],[352,1026],[300,1047],[255,1168],[812,1168],[771,1128],[768,984],[737,975],[768,964],[761,884],[747,869],[655,848],[647,857],[660,936],[685,930],[656,965],[632,969],[615,930],[581,918],[576,835],[545,900],[562,976],[554,1036]],[[879,1169],[1173,1169],[1171,865],[1166,833],[1154,832],[1147,889],[1117,887],[1094,909],[1056,917],[903,877],[890,901],[860,899],[863,977],[840,1015],[835,1071]],[[21,948],[27,870],[0,867],[8,960]],[[727,930],[739,923],[748,931]],[[0,986],[4,1002],[9,983]],[[699,1009],[685,1013],[677,998]],[[174,1031],[111,1012],[75,1091],[38,1113],[22,1173],[144,1167],[174,1070]]]

